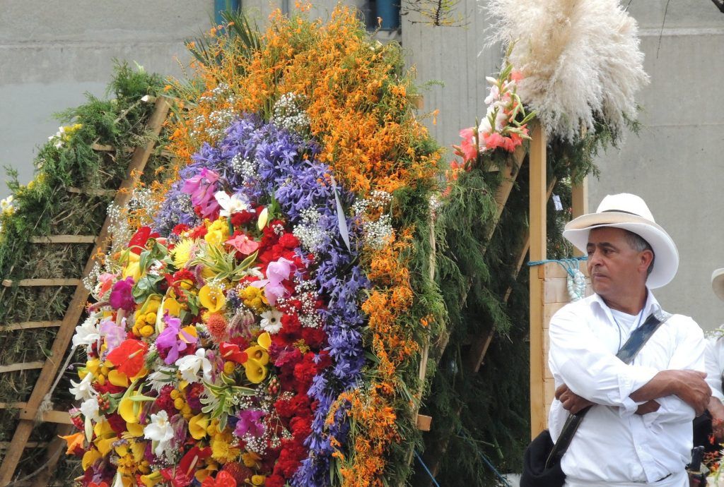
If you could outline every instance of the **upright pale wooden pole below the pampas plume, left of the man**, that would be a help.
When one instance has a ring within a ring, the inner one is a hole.
[[[530,261],[546,259],[546,135],[544,127],[536,124],[531,134],[530,167]],[[543,279],[539,268],[530,268],[530,337],[531,337],[531,438],[544,428],[544,379],[543,352]]]

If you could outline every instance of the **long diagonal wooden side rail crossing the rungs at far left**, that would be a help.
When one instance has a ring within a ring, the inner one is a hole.
[[[164,120],[166,120],[169,108],[169,103],[165,98],[156,100],[156,109],[153,111],[153,115],[147,125],[148,132],[151,132],[153,137],[158,136],[161,132],[161,125],[164,123]],[[127,177],[119,187],[119,191],[115,192],[114,204],[117,204],[117,206],[124,207],[129,202],[132,196],[132,189],[138,183],[138,178],[143,174],[146,162],[151,152],[153,152],[153,146],[155,145],[153,137],[146,143],[145,147],[137,147],[133,152],[133,157],[127,168]],[[109,236],[110,223],[111,219],[106,216],[106,221],[101,228],[101,232],[98,234],[96,245],[93,251],[90,252],[91,257],[85,264],[83,277],[87,277],[90,271],[93,270],[96,264],[96,256],[104,254]],[[75,331],[75,325],[80,319],[81,314],[83,314],[83,306],[88,299],[88,294],[88,290],[82,283],[77,285],[73,298],[70,301],[70,306],[68,306],[63,318],[63,324],[59,328],[53,342],[50,358],[46,361],[45,366],[43,366],[43,370],[38,377],[38,382],[35,383],[33,392],[28,400],[28,405],[22,410],[23,417],[35,418],[35,413],[38,411],[41,402],[43,402],[43,397],[45,397],[51,384],[54,382],[65,352],[68,349],[68,345],[70,345],[70,340]],[[20,462],[22,449],[28,441],[34,426],[35,422],[30,419],[22,419],[18,423],[12,436],[11,447],[5,455],[2,465],[0,465],[0,486],[7,485],[7,483],[12,480],[17,464]]]

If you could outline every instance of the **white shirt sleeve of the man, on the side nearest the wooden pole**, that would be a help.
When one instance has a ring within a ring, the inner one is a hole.
[[[572,308],[565,306],[550,321],[548,362],[552,373],[589,401],[623,408],[622,414],[635,413],[639,404],[628,396],[647,384],[657,369],[620,361]]]

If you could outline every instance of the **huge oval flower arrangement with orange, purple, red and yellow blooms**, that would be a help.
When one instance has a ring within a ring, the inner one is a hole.
[[[324,26],[275,14],[251,53],[214,35],[201,92],[175,88],[193,102],[172,121],[177,177],[111,208],[88,281],[65,437],[82,483],[404,478],[419,344],[440,313],[414,244],[439,155],[398,48],[346,9]]]

